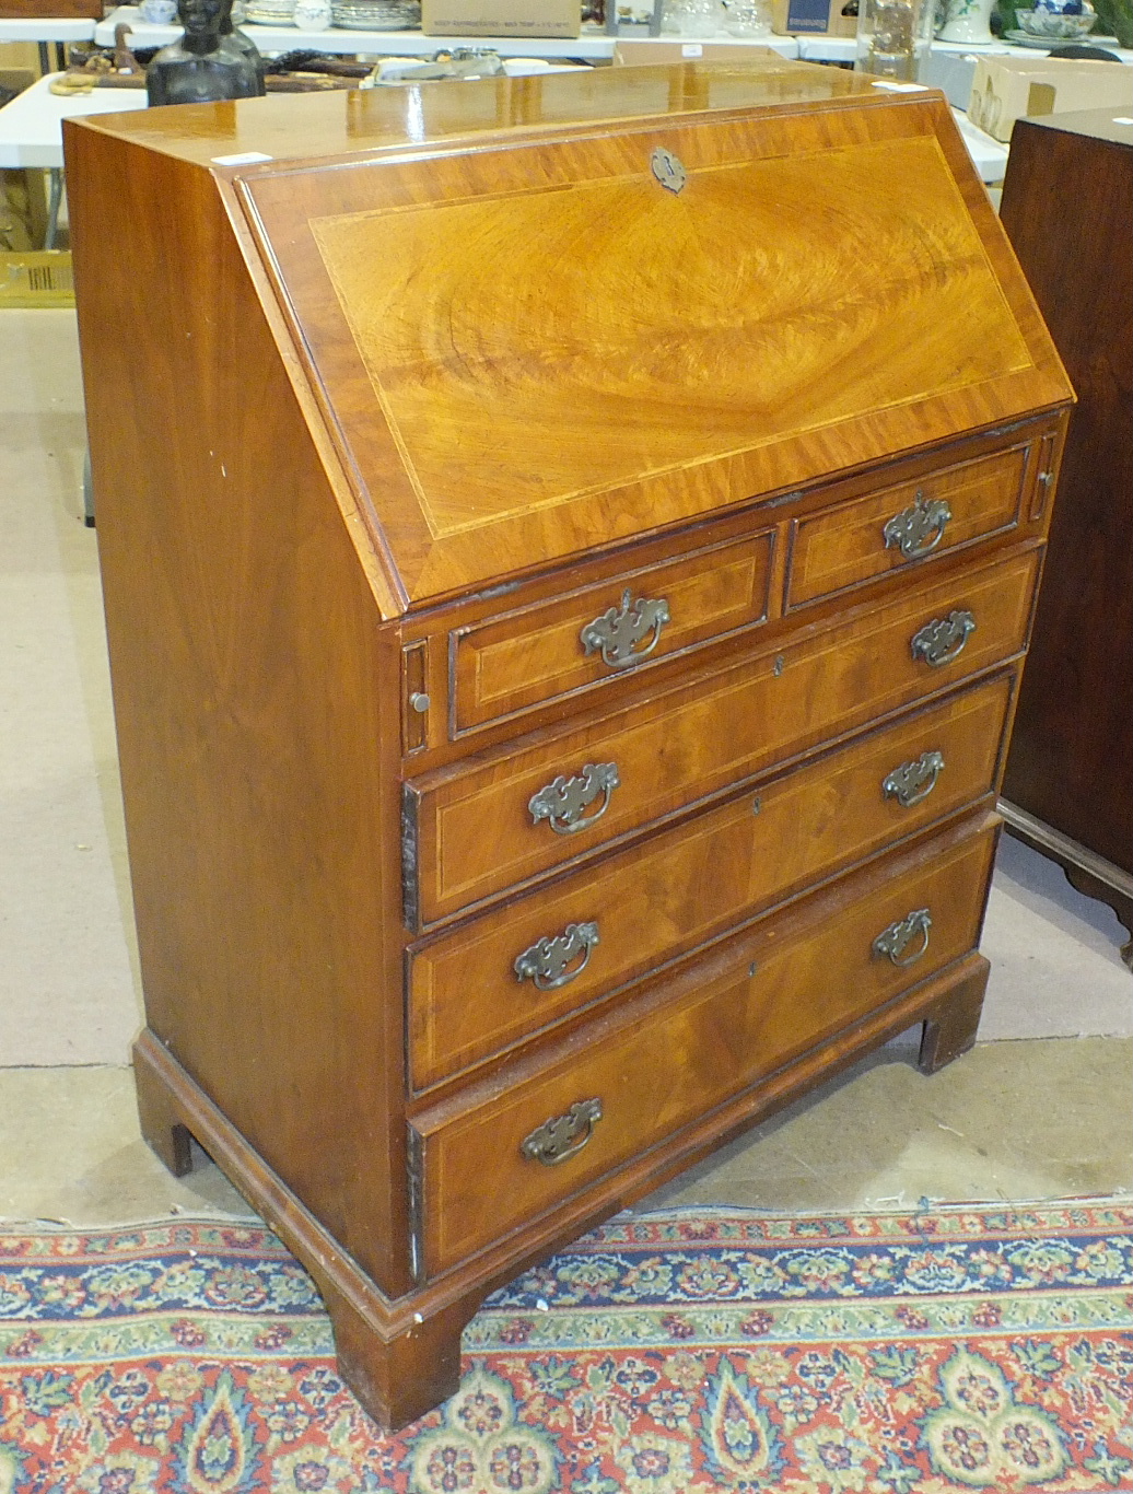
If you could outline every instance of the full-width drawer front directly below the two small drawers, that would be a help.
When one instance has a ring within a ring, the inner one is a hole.
[[[1018,653],[1037,560],[1015,553],[795,635],[683,696],[410,783],[407,922],[457,913]],[[964,614],[975,629],[960,636]]]

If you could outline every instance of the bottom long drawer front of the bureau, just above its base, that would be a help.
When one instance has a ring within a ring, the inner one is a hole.
[[[505,1092],[483,1086],[463,1110],[416,1118],[427,1271],[664,1144],[975,949],[994,832],[942,837],[934,849],[765,920],[685,973],[670,1004],[620,1028],[596,1023],[581,1050],[575,1041]]]

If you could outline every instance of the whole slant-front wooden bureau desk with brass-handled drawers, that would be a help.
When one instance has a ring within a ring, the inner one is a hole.
[[[143,111],[67,167],[143,1131],[399,1424],[493,1285],[973,1041],[1069,387],[943,99],[830,69]]]

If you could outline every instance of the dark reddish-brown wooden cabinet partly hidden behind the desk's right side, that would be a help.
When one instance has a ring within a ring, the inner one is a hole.
[[[1115,118],[1118,115],[1120,118]],[[1081,202],[1085,211],[1067,211]],[[1003,792],[1013,834],[1133,934],[1133,125],[1021,120],[1003,224],[1078,391]],[[1133,967],[1133,938],[1123,956]]]

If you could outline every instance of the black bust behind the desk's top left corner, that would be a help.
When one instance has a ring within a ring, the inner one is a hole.
[[[208,103],[263,94],[256,46],[232,33],[232,0],[179,0],[185,34],[163,46],[145,76],[151,105]]]

